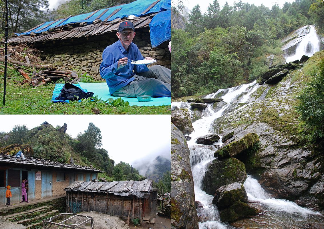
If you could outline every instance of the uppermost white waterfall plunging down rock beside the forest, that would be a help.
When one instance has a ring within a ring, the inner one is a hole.
[[[316,34],[315,27],[313,25],[310,25],[309,27],[309,33],[305,37],[303,37],[301,42],[299,42],[296,47],[295,54],[286,57],[286,62],[300,60],[303,55],[311,57],[312,55],[314,55],[314,53],[319,51],[320,42]]]

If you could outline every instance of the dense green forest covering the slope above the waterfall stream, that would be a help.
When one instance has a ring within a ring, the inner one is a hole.
[[[205,14],[196,5],[186,28],[172,29],[172,97],[205,95],[255,80],[272,65],[284,63],[281,38],[308,24],[324,31],[324,2],[296,0],[280,8],[242,1]]]

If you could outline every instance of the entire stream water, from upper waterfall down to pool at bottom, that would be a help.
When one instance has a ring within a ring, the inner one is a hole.
[[[314,26],[310,27],[310,32],[297,46],[295,55],[287,57],[287,61],[299,59],[304,54],[311,56],[319,51],[319,40],[315,28]],[[261,86],[254,81],[233,88],[220,89],[215,93],[205,96],[205,98],[222,98],[224,105],[214,111],[213,103],[208,104],[207,108],[203,109],[203,118],[192,123],[194,131],[189,135],[191,139],[187,143],[190,149],[195,200],[200,201],[203,205],[203,210],[198,211],[200,229],[231,229],[236,227],[220,222],[217,207],[211,204],[213,196],[206,194],[202,190],[202,181],[206,172],[206,166],[211,161],[217,160],[214,158],[214,152],[222,147],[222,136],[219,135],[219,141],[210,146],[197,144],[195,143],[196,139],[210,133],[210,126],[215,119],[224,114],[229,114],[249,106],[251,102],[250,95],[259,87]],[[171,105],[188,109],[192,116],[192,110],[188,102],[172,102]],[[254,217],[253,220],[241,220],[242,224],[240,225],[238,223],[236,226],[248,226],[247,228],[250,229],[299,229],[301,228],[301,223],[323,222],[323,215],[318,212],[302,208],[288,200],[272,198],[263,190],[258,181],[250,175],[248,175],[248,178],[244,182],[244,187],[247,191],[249,201],[259,204],[264,211]],[[324,228],[324,223],[321,225]]]

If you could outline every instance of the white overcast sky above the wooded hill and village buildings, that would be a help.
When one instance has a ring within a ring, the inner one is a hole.
[[[88,128],[89,122],[99,127],[101,148],[109,151],[116,163],[134,165],[145,173],[149,162],[157,156],[171,157],[170,115],[0,115],[0,131],[10,132],[14,125],[31,129],[47,121],[52,126],[67,123],[66,133],[75,138]]]

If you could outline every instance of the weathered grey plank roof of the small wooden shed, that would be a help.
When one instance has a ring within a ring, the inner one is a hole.
[[[65,191],[79,192],[100,192],[113,193],[119,196],[137,196],[147,197],[147,193],[153,191],[152,180],[145,179],[141,181],[112,181],[112,182],[93,182],[93,181],[75,181]]]

